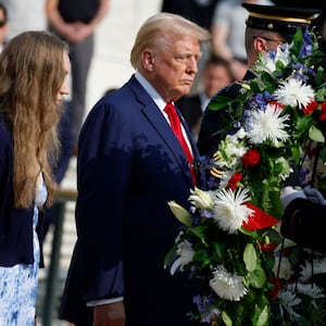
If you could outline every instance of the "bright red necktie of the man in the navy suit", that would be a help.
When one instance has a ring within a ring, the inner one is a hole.
[[[193,158],[192,158],[192,154],[188,147],[188,143],[183,135],[180,120],[175,110],[175,106],[172,103],[167,103],[164,111],[166,112],[166,114],[168,116],[168,121],[170,121],[171,127],[172,127],[175,136],[177,137],[177,139],[179,140],[179,143],[181,145],[181,147],[184,149],[184,152],[187,158],[188,166],[191,172],[193,184],[197,185],[197,178],[196,178],[195,166],[193,166]]]

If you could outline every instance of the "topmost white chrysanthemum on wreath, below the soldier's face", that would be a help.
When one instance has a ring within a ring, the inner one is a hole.
[[[306,106],[315,98],[311,85],[305,85],[296,78],[283,82],[273,96],[278,102],[285,105],[299,106],[299,109]]]

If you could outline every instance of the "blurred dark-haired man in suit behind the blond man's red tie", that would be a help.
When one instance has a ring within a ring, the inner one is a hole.
[[[205,62],[201,76],[201,90],[176,101],[176,106],[188,123],[192,137],[198,139],[201,116],[206,109],[211,98],[217,90],[234,80],[230,66],[227,61],[212,55]]]

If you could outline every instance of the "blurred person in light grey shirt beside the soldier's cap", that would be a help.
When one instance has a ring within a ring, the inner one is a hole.
[[[244,47],[247,11],[242,2],[273,4],[269,0],[221,0],[215,7],[212,18],[213,53],[230,63],[237,80],[242,79],[248,70]]]

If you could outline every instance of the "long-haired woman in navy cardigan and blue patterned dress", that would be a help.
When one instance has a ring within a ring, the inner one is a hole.
[[[1,325],[35,325],[36,226],[53,193],[50,158],[68,72],[67,46],[45,32],[17,35],[0,54]]]

